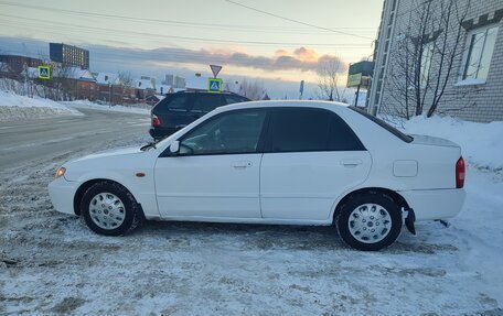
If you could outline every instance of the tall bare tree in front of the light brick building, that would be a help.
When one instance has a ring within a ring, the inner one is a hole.
[[[463,54],[463,22],[470,0],[461,8],[457,0],[428,0],[414,3],[408,23],[390,52],[389,97],[399,106],[384,107],[383,112],[405,119],[422,115],[431,117],[443,103],[459,100],[461,95],[447,94],[454,63]],[[459,92],[462,94],[462,92]]]

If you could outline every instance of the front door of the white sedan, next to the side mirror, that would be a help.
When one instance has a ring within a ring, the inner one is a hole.
[[[259,140],[266,117],[263,109],[228,111],[181,137],[180,152],[162,154],[156,163],[161,215],[260,218]]]

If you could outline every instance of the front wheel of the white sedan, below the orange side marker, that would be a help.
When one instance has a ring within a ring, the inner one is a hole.
[[[103,181],[92,185],[81,200],[81,214],[94,232],[125,235],[141,222],[141,209],[129,190],[118,183]]]

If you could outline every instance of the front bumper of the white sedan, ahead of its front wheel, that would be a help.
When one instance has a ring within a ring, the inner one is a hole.
[[[77,182],[66,181],[64,176],[49,184],[49,196],[57,211],[75,215],[73,203],[78,185]]]

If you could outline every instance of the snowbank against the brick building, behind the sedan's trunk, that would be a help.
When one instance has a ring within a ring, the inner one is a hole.
[[[458,143],[464,160],[474,167],[503,170],[503,122],[477,123],[421,116],[405,121],[400,129],[409,134],[427,134]]]

